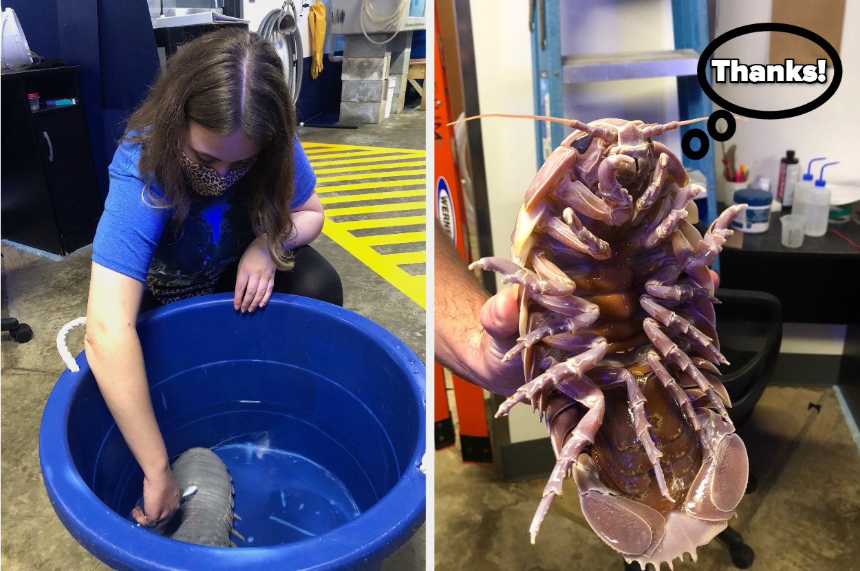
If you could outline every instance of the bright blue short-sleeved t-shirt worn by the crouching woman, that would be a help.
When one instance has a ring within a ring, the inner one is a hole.
[[[93,240],[93,261],[133,279],[147,275],[175,286],[198,284],[218,276],[254,241],[243,188],[243,176],[224,194],[200,197],[193,193],[181,228],[169,227],[169,209],[153,206],[140,175],[142,143],[123,139],[108,168],[110,190]],[[295,175],[291,208],[310,198],[316,175],[302,145],[293,145]],[[163,187],[152,181],[153,197]]]

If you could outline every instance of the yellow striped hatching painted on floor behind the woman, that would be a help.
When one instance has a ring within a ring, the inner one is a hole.
[[[427,262],[427,233],[402,231],[423,227],[427,221],[424,214],[426,201],[415,200],[426,198],[426,153],[423,150],[345,144],[302,145],[318,175],[316,192],[320,194],[320,200],[324,205],[333,205],[325,209],[322,233],[416,304],[426,308],[425,273],[413,275],[401,267]],[[330,196],[329,193],[338,195]],[[373,203],[367,204],[368,201]],[[416,210],[421,214],[400,214]],[[387,213],[390,216],[384,216]],[[370,214],[382,214],[383,217],[354,219]],[[362,235],[354,235],[355,230],[361,230]],[[378,234],[367,235],[377,231]],[[407,251],[388,254],[378,251],[378,247],[391,245],[401,245],[398,249]],[[420,267],[409,269],[415,271]]]

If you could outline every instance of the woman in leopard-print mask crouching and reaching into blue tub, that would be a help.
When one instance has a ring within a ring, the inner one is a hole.
[[[84,344],[144,471],[144,502],[132,512],[140,525],[166,524],[179,490],[152,410],[138,312],[212,292],[234,292],[242,312],[273,291],[342,304],[335,269],[307,245],[323,214],[295,124],[273,47],[222,30],[171,58],[110,165]]]

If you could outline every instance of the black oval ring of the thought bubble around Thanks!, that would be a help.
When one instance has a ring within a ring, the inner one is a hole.
[[[825,90],[824,93],[816,97],[813,101],[809,101],[808,103],[804,103],[803,105],[799,105],[797,107],[791,107],[789,109],[777,109],[775,111],[766,111],[763,109],[750,109],[748,107],[740,107],[740,105],[736,105],[731,101],[728,101],[726,98],[721,95],[717,95],[714,88],[710,86],[708,82],[708,60],[714,52],[716,48],[725,44],[728,40],[734,40],[742,35],[746,34],[755,34],[756,32],[784,32],[785,34],[795,34],[801,36],[802,38],[806,38],[809,41],[814,42],[818,46],[821,46],[828,56],[830,56],[830,61],[833,63],[833,77],[830,82],[830,86]],[[725,34],[722,34],[716,40],[710,42],[702,55],[699,56],[698,67],[697,67],[697,77],[699,85],[702,86],[702,90],[705,95],[708,95],[710,101],[714,101],[717,105],[728,109],[729,111],[743,115],[745,117],[752,117],[753,119],[787,119],[789,117],[796,117],[797,115],[802,115],[812,111],[815,108],[823,105],[828,99],[830,99],[834,93],[836,93],[836,89],[839,88],[839,83],[842,82],[842,60],[839,58],[839,53],[830,45],[827,40],[822,38],[820,35],[815,34],[814,32],[810,32],[806,28],[801,28],[800,26],[792,26],[791,24],[781,24],[777,22],[764,22],[760,24],[749,24],[748,26],[741,26],[740,28],[734,28],[729,30]]]

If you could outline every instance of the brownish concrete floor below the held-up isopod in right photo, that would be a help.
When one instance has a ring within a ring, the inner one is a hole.
[[[860,453],[833,390],[770,386],[738,433],[759,487],[730,525],[755,551],[751,568],[860,569]],[[459,445],[435,460],[437,569],[624,569],[587,525],[572,483],[531,545],[528,528],[545,480],[499,482],[493,465],[463,464]],[[699,549],[698,562],[674,568],[735,569],[719,541]]]

